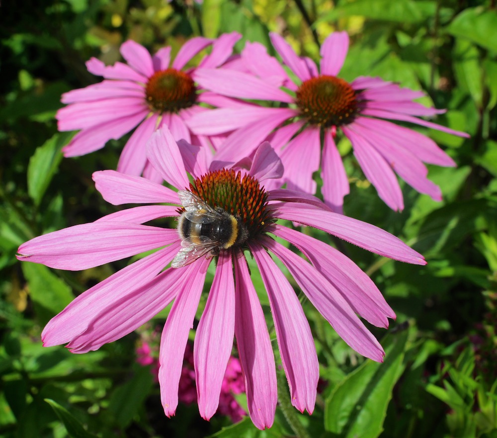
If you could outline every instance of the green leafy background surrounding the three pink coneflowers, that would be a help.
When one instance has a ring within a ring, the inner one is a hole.
[[[2,1],[0,436],[497,437],[496,28],[495,0]],[[381,76],[423,89],[424,103],[448,108],[437,122],[471,134],[463,140],[419,128],[458,167],[430,168],[444,194],[439,203],[403,184],[402,213],[379,200],[350,144],[339,143],[351,182],[346,214],[401,237],[428,265],[343,245],[397,313],[388,334],[371,328],[385,362],[357,356],[304,302],[327,385],[311,417],[284,409],[283,388],[283,410],[264,432],[249,419],[206,423],[195,406],[180,405],[166,419],[149,369],[135,363],[136,334],[83,355],[42,347],[51,317],[129,261],[65,272],[14,257],[26,240],[114,211],[91,173],[115,169],[124,140],[77,159],[60,153],[72,135],[57,132],[61,93],[97,81],[84,61],[119,60],[128,38],[175,53],[192,36],[233,30],[244,37],[238,50],[245,40],[271,50],[271,30],[314,59],[332,30],[347,30],[341,77]]]

